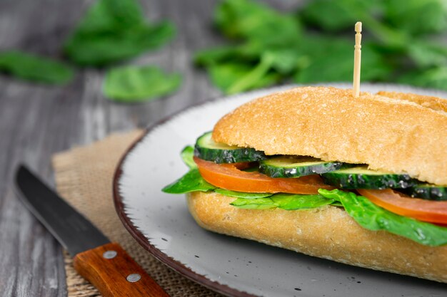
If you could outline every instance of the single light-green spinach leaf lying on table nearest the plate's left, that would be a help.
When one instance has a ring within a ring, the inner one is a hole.
[[[139,102],[173,93],[181,85],[179,73],[166,74],[154,66],[124,66],[106,73],[104,94],[121,102]]]

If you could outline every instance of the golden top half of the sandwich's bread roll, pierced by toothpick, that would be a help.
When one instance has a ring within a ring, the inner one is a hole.
[[[445,101],[382,94],[361,93],[354,98],[352,90],[331,87],[273,93],[221,118],[213,138],[266,155],[366,164],[372,170],[447,184]]]

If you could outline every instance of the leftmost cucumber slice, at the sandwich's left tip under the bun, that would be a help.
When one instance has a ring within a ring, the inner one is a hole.
[[[215,142],[212,132],[206,132],[196,141],[194,155],[216,163],[256,162],[266,159],[263,152],[250,147],[236,147]]]

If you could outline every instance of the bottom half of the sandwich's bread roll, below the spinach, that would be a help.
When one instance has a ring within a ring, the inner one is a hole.
[[[447,246],[423,246],[386,231],[359,226],[339,207],[311,210],[239,209],[236,198],[192,192],[189,212],[210,231],[344,264],[447,283]]]

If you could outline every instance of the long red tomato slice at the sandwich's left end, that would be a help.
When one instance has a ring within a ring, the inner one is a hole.
[[[245,172],[248,162],[216,164],[194,157],[202,177],[216,187],[238,192],[318,194],[318,189],[334,189],[318,174],[299,178],[273,178],[260,172]]]

